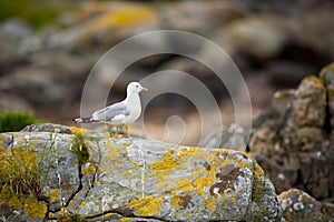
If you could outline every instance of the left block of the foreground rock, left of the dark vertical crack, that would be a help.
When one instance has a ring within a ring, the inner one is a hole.
[[[67,205],[80,188],[77,157],[69,152],[71,135],[63,134],[70,133],[69,128],[41,124],[26,129],[48,132],[0,135],[0,212],[4,212],[0,216],[9,221],[42,221]]]

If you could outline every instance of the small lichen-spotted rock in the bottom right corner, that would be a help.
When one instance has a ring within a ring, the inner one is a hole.
[[[286,222],[327,222],[334,219],[333,204],[321,203],[298,189],[281,193],[278,201]]]

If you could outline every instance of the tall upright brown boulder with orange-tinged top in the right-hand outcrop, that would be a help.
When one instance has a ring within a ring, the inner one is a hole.
[[[322,80],[305,78],[294,93],[285,128],[281,131],[286,152],[312,151],[323,141],[326,89]]]

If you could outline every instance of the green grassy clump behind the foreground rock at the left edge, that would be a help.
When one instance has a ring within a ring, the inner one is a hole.
[[[14,132],[22,130],[26,125],[41,122],[30,113],[7,111],[0,114],[0,132]]]

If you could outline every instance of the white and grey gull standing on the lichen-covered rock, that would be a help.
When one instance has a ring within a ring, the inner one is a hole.
[[[118,127],[126,128],[126,137],[128,137],[127,124],[134,123],[141,113],[141,104],[139,93],[148,91],[141,87],[139,82],[130,82],[127,87],[127,97],[125,100],[114,103],[105,109],[95,111],[91,117],[77,118],[73,121],[80,123],[107,123],[116,127],[116,135],[118,137]]]

